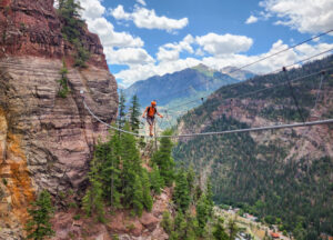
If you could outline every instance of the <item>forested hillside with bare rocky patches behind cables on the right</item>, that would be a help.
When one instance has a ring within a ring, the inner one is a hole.
[[[333,118],[332,68],[333,56],[223,87],[182,117],[178,130],[222,131]],[[241,207],[296,239],[316,239],[333,234],[332,146],[333,126],[315,126],[181,139],[174,158],[195,166],[202,179],[211,177],[216,203]]]

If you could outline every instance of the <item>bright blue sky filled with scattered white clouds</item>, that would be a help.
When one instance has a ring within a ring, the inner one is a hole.
[[[199,63],[241,67],[333,28],[332,0],[80,2],[122,87]],[[332,48],[333,37],[322,37],[249,70],[264,73]]]

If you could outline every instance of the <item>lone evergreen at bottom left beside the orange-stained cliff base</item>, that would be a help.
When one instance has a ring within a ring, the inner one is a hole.
[[[43,190],[32,208],[28,209],[30,219],[27,223],[28,239],[42,240],[46,237],[53,236],[50,219],[53,212],[50,193]]]

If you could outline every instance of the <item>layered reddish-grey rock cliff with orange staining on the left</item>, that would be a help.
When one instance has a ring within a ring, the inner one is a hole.
[[[60,29],[53,0],[0,1],[0,239],[21,238],[39,189],[84,190],[93,146],[108,130],[85,111],[80,90],[101,119],[117,114],[117,82],[87,30],[88,68],[69,68],[70,93],[58,97],[61,59],[70,66],[73,52]]]

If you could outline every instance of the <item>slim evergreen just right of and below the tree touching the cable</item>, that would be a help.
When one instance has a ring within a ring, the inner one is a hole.
[[[185,212],[188,210],[191,198],[189,192],[188,176],[183,169],[180,170],[175,179],[173,200],[180,211]]]

